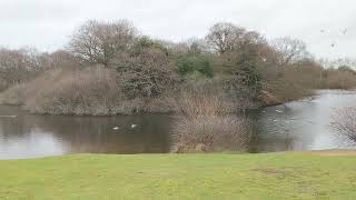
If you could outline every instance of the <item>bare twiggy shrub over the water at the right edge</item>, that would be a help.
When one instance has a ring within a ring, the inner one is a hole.
[[[356,141],[356,104],[335,110],[332,127],[339,134]]]

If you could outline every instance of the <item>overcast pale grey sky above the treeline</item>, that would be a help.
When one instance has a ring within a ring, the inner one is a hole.
[[[355,0],[0,0],[0,46],[52,51],[86,20],[122,18],[174,41],[204,37],[215,22],[228,21],[267,38],[301,39],[317,57],[356,58]]]

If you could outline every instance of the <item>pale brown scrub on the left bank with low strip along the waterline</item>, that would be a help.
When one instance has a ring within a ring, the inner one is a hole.
[[[171,112],[171,98],[128,99],[112,69],[55,69],[33,81],[4,91],[6,104],[22,104],[33,113],[111,116],[135,112]]]

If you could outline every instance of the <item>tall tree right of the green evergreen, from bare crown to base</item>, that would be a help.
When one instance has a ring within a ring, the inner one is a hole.
[[[206,39],[219,52],[216,68],[225,77],[227,90],[244,108],[249,107],[261,90],[259,67],[267,58],[267,41],[258,32],[231,23],[212,26]]]

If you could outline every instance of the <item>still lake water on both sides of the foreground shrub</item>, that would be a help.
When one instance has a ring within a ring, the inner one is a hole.
[[[356,92],[322,90],[313,99],[251,111],[251,152],[354,148],[329,127],[333,110],[356,101]],[[167,114],[117,117],[36,116],[0,106],[0,159],[69,153],[169,152],[175,120]],[[137,124],[132,128],[132,124]],[[115,128],[118,130],[115,130]]]

